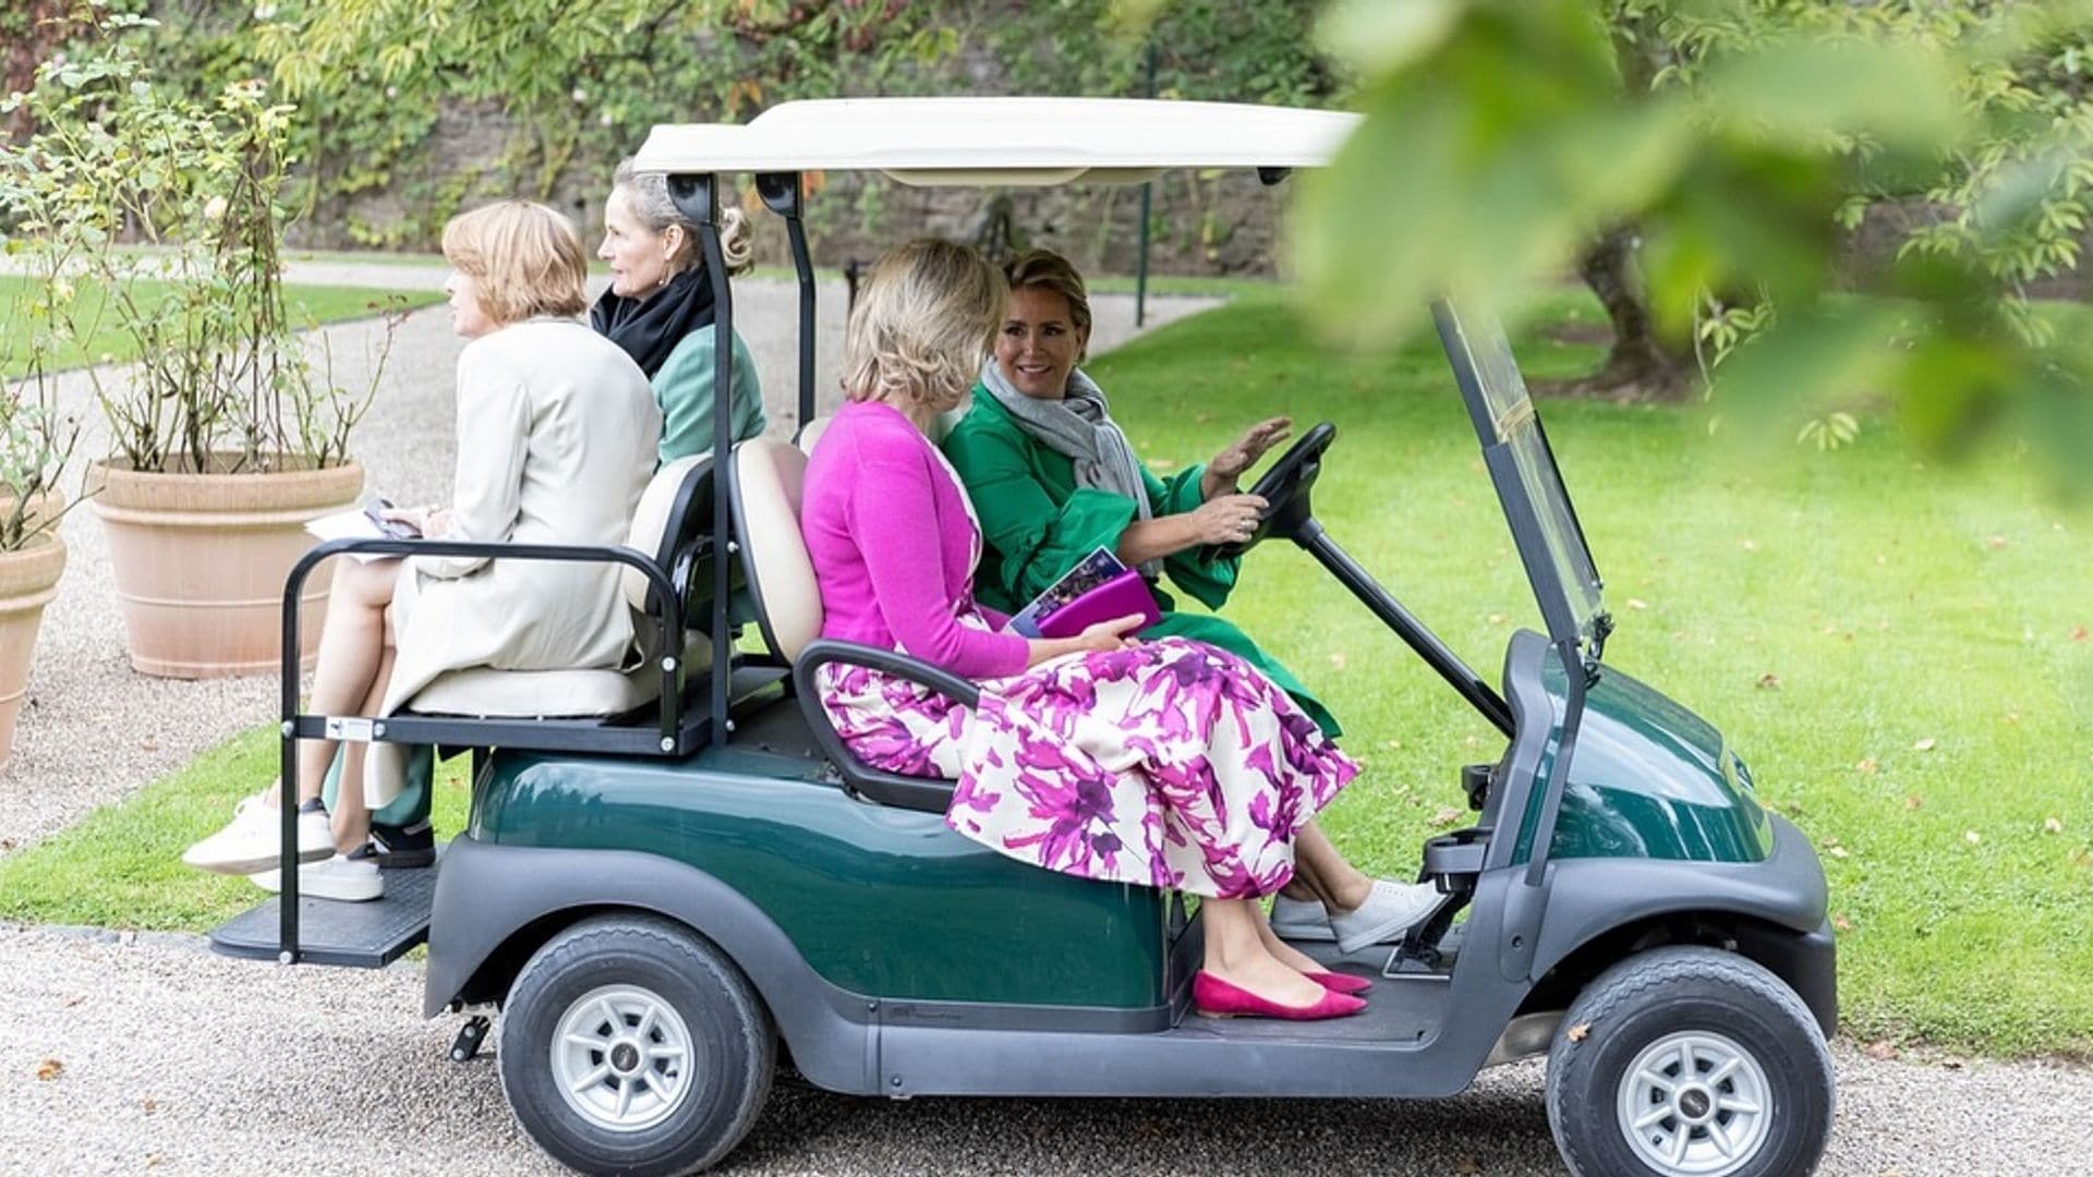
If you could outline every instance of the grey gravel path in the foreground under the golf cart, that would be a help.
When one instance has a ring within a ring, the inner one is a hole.
[[[421,970],[230,961],[190,936],[0,928],[0,1173],[557,1173]],[[492,1051],[490,1051],[492,1053]],[[1821,1173],[2083,1171],[2093,1074],[1840,1043]],[[50,1064],[57,1064],[52,1072]],[[40,1072],[50,1079],[40,1079]],[[1444,1102],[913,1100],[781,1085],[722,1173],[1559,1173],[1540,1066]]]

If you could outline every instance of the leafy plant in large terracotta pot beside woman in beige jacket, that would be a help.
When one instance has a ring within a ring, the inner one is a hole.
[[[264,672],[280,658],[285,574],[312,545],[303,524],[362,490],[347,440],[377,375],[337,387],[285,306],[291,107],[262,82],[211,103],[174,92],[132,44],[144,25],[92,8],[75,52],[10,98],[38,130],[0,159],[0,207],[52,289],[82,285],[50,299],[54,337],[136,346],[136,364],[90,371],[109,452],[88,467],[132,666]],[[327,584],[308,580],[306,616],[324,616]],[[310,658],[318,624],[299,645]]]

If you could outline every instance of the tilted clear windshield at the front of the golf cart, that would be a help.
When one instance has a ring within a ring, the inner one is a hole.
[[[1511,341],[1494,318],[1463,316],[1450,302],[1434,304],[1432,318],[1467,400],[1549,637],[1589,643],[1586,653],[1597,660],[1614,628],[1599,593],[1599,570],[1570,507],[1540,415],[1526,394],[1526,379],[1511,358]]]

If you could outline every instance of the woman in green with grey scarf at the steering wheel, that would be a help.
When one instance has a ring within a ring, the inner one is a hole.
[[[1105,394],[1076,367],[1090,341],[1082,276],[1061,256],[1034,249],[1011,262],[1009,279],[996,354],[982,367],[973,408],[944,440],[982,515],[980,601],[1015,614],[1076,561],[1111,549],[1155,588],[1164,620],[1143,637],[1185,637],[1241,656],[1337,735],[1329,708],[1250,635],[1216,616],[1176,612],[1155,584],[1168,576],[1210,609],[1229,599],[1239,559],[1199,559],[1199,549],[1250,538],[1264,501],[1239,494],[1237,480],[1287,438],[1291,421],[1260,421],[1214,461],[1155,478],[1111,423]]]

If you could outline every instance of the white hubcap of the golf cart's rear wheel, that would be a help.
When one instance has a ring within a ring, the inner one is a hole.
[[[691,1093],[691,1030],[636,984],[605,984],[567,1005],[550,1062],[567,1106],[609,1131],[659,1125]]]

